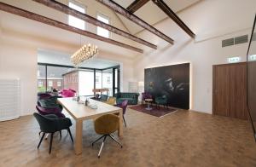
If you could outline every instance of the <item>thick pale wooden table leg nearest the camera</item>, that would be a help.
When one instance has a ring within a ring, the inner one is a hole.
[[[75,140],[75,154],[79,155],[82,153],[83,148],[83,140],[82,140],[82,132],[83,132],[83,121],[76,121],[76,140]]]

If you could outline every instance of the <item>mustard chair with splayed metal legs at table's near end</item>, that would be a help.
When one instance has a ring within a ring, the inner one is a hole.
[[[99,118],[96,118],[94,121],[94,128],[97,134],[102,135],[100,138],[98,138],[96,141],[101,140],[102,138],[102,146],[101,149],[98,153],[98,158],[100,158],[101,153],[102,153],[102,148],[104,146],[104,142],[106,141],[106,138],[109,136],[111,139],[113,139],[113,141],[115,141],[116,143],[119,144],[120,147],[123,147],[119,141],[117,141],[113,135],[111,135],[113,132],[119,130],[119,117],[117,115],[114,114],[106,114],[106,115],[102,115]],[[94,143],[96,143],[96,141],[94,141],[91,145],[93,146]]]

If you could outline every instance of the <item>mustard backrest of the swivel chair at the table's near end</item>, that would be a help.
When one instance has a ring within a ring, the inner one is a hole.
[[[95,131],[100,135],[108,135],[119,129],[119,117],[114,114],[105,114],[96,118]]]

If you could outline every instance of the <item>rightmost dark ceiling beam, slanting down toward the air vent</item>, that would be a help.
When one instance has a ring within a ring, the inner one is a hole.
[[[175,14],[172,9],[168,7],[168,5],[163,0],[152,0],[154,4],[156,4],[163,12],[165,12],[174,22],[177,23],[178,26],[180,26],[183,31],[187,32],[190,37],[195,38],[195,33],[192,32],[189,29],[189,26],[187,26],[183,20],[179,19],[177,14]]]

